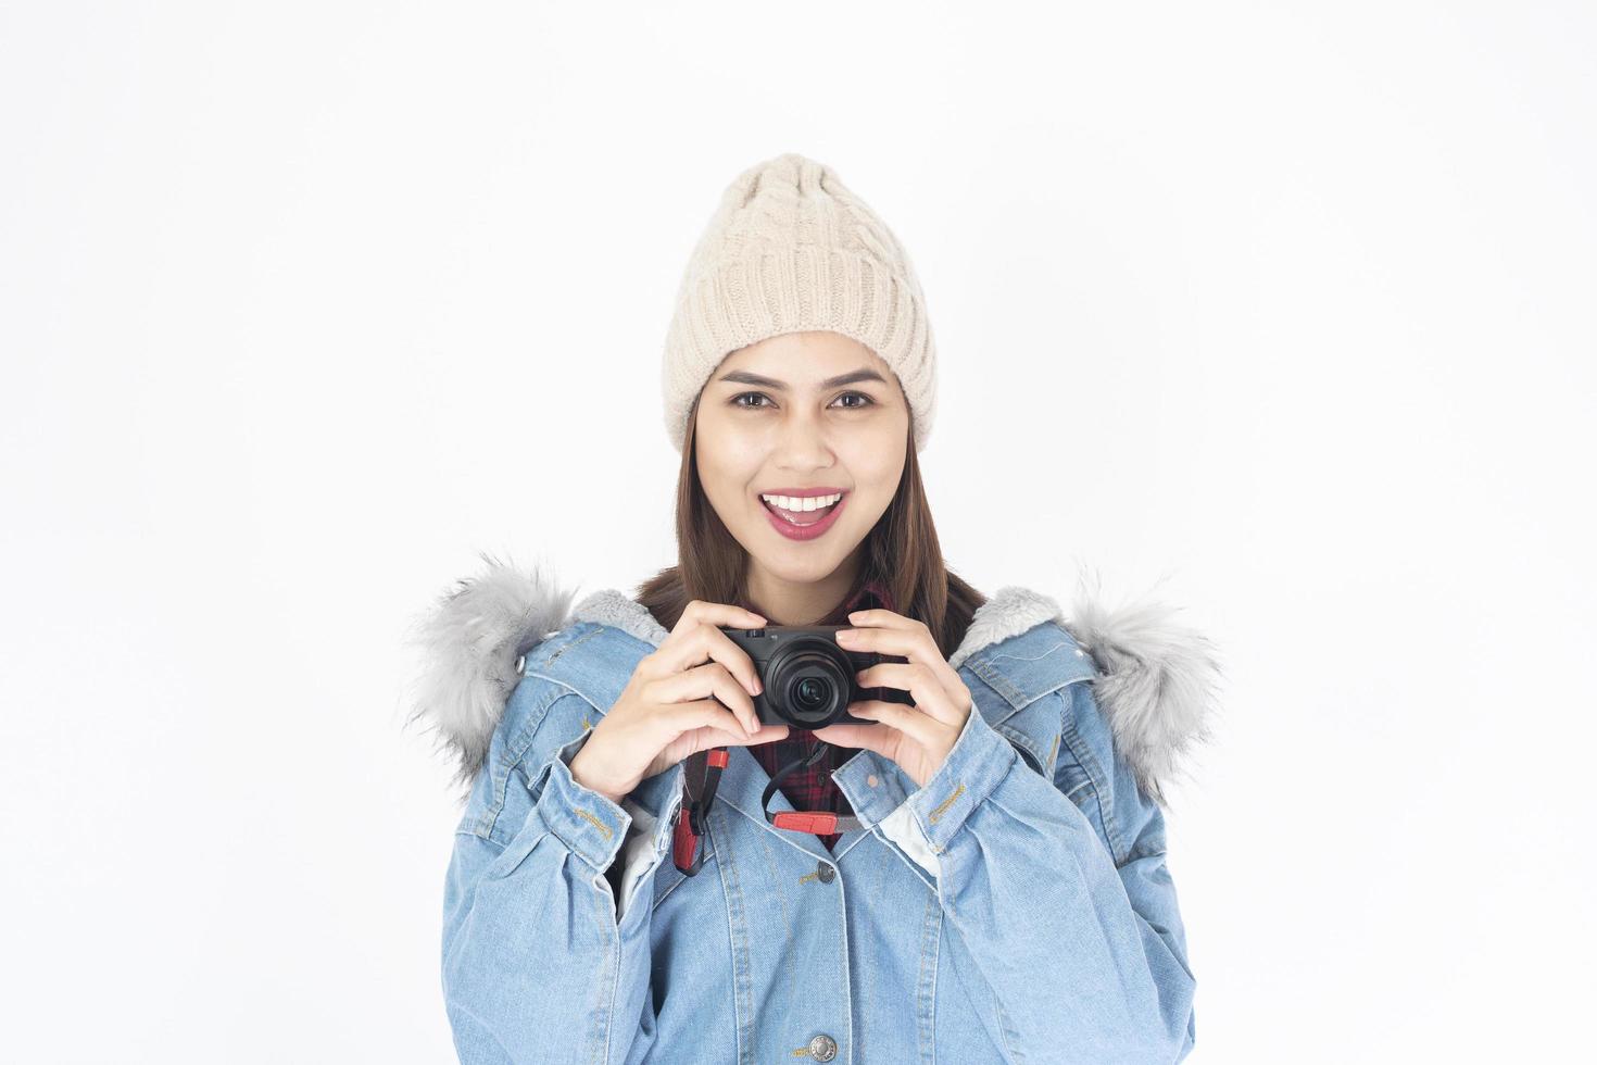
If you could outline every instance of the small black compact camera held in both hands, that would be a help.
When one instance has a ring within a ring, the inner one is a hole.
[[[877,663],[907,663],[902,655],[850,651],[837,642],[840,624],[771,624],[763,629],[719,626],[747,651],[760,675],[754,712],[762,725],[816,730],[827,725],[875,725],[848,712],[850,703],[882,699],[913,706],[902,688],[864,688],[854,674]]]

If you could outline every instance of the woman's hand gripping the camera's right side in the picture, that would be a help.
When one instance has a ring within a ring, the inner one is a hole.
[[[915,706],[862,699],[848,712],[875,725],[827,725],[814,730],[816,739],[838,747],[864,747],[896,762],[925,787],[953,750],[974,703],[971,690],[937,650],[931,629],[891,610],[858,610],[848,615],[856,626],[838,629],[837,643],[848,651],[902,655],[907,663],[877,663],[854,677],[862,688],[902,688]],[[885,726],[885,728],[883,728]]]

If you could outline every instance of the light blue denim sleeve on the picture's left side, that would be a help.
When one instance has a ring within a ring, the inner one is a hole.
[[[591,733],[561,701],[588,706],[530,677],[517,685],[455,832],[442,987],[463,1065],[621,1063],[653,1043],[650,905],[618,907],[612,867],[620,854],[637,891],[669,837],[650,830],[652,861],[626,861],[623,841],[639,849],[632,814],[572,779]]]

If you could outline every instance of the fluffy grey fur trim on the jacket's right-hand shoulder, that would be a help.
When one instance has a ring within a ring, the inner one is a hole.
[[[1115,749],[1161,806],[1182,758],[1211,736],[1223,671],[1214,645],[1158,602],[1105,607],[1083,588],[1070,635],[1104,674],[1092,685]]]

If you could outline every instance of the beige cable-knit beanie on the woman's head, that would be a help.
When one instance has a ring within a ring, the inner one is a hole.
[[[810,329],[853,337],[893,367],[923,450],[937,350],[909,255],[832,168],[789,152],[727,187],[682,275],[661,369],[677,452],[693,401],[728,353]]]

